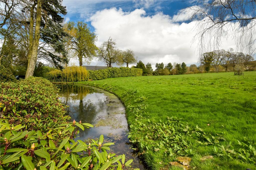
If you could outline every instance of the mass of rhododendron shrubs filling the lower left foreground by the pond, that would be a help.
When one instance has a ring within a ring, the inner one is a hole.
[[[48,80],[30,77],[1,83],[1,169],[124,169],[125,155],[110,153],[103,135],[92,143],[75,141],[91,124],[66,122],[58,89]],[[35,125],[36,124],[36,125]],[[121,160],[121,161],[120,161]]]

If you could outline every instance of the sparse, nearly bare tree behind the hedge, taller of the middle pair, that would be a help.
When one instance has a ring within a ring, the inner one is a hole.
[[[115,40],[113,40],[111,37],[109,37],[108,41],[104,41],[98,50],[99,60],[106,62],[108,67],[111,67],[111,65],[117,61],[118,57],[120,57],[120,55],[121,52],[116,47]]]

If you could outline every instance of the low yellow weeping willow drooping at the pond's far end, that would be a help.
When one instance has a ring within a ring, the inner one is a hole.
[[[49,75],[53,79],[66,79],[68,82],[86,81],[89,76],[86,68],[82,66],[70,66],[62,71],[53,70],[49,72]]]

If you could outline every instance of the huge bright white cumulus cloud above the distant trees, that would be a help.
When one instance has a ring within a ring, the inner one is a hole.
[[[118,48],[131,48],[138,60],[151,63],[196,64],[198,61],[197,41],[191,43],[196,32],[196,21],[177,23],[173,17],[157,13],[147,16],[144,9],[124,12],[121,8],[110,8],[97,11],[90,18],[91,25],[98,36],[97,45],[107,41],[111,36],[116,40]],[[223,48],[234,48],[232,40]],[[104,65],[94,60],[91,65]]]

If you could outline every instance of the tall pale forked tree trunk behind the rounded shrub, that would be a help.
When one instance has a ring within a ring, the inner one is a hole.
[[[33,76],[35,66],[36,66],[36,60],[37,60],[37,52],[38,52],[38,45],[39,45],[39,39],[40,39],[40,24],[41,24],[41,0],[37,1],[37,11],[36,11],[36,27],[35,27],[35,36],[33,39],[33,28],[32,23],[33,21],[33,15],[30,16],[30,24],[29,24],[29,53],[28,53],[28,67],[25,79],[27,79],[30,76]],[[32,8],[30,10],[30,15],[33,14]],[[34,9],[34,8],[33,8]],[[34,24],[34,22],[33,22]],[[33,41],[32,41],[33,39]]]

